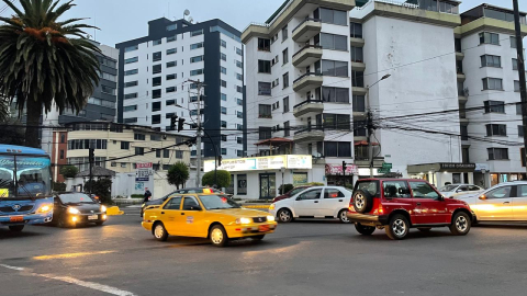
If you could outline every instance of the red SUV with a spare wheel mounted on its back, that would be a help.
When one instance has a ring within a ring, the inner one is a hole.
[[[457,236],[470,231],[472,212],[466,202],[445,198],[434,186],[417,179],[366,179],[355,184],[348,219],[361,235],[375,228],[391,239],[404,239],[410,228],[429,231],[448,226]]]

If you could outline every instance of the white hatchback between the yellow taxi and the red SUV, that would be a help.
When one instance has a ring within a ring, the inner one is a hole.
[[[291,198],[272,203],[269,213],[280,223],[290,223],[295,218],[330,218],[348,223],[346,213],[351,192],[340,186],[313,186],[305,189]]]

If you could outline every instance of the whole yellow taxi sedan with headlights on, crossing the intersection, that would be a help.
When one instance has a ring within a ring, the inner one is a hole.
[[[242,208],[228,197],[216,194],[172,195],[160,206],[146,208],[143,227],[157,240],[168,236],[209,238],[213,246],[228,240],[261,240],[274,232],[274,217],[266,212]]]

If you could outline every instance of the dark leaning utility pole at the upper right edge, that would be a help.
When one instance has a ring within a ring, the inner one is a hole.
[[[522,42],[522,27],[519,24],[518,0],[513,0],[514,29],[516,31],[516,52],[518,53],[519,95],[522,98],[522,122],[524,124],[524,155],[527,161],[527,86],[525,81],[524,44]]]

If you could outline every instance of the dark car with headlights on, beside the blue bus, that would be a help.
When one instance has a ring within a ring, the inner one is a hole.
[[[106,207],[81,192],[58,193],[54,200],[53,220],[59,227],[96,224],[106,220]]]

